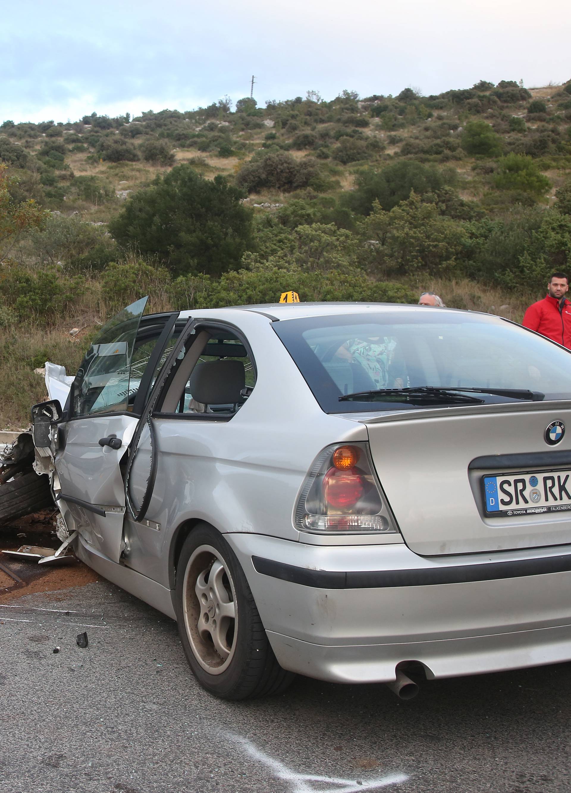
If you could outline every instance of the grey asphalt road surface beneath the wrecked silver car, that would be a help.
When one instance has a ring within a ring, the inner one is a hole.
[[[92,580],[0,604],[0,791],[569,791],[570,695],[565,664],[432,681],[409,702],[300,677],[224,703],[170,619]]]

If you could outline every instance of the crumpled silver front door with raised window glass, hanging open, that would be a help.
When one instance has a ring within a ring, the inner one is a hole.
[[[112,561],[123,547],[122,462],[178,313],[149,317],[147,297],[124,308],[91,343],[57,432],[54,495],[70,531]]]

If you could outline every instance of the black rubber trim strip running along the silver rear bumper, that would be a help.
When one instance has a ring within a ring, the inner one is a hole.
[[[458,567],[428,567],[412,570],[358,570],[343,573],[329,570],[310,570],[305,567],[285,565],[281,561],[252,557],[258,573],[272,578],[319,589],[385,589],[393,587],[425,587],[439,584],[469,584],[474,581],[492,581],[503,578],[544,576],[549,573],[569,573],[571,554],[493,561],[484,565]]]

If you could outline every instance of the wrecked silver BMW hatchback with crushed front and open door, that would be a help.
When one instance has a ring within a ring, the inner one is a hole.
[[[569,351],[446,308],[145,303],[33,408],[36,468],[205,688],[571,660]]]

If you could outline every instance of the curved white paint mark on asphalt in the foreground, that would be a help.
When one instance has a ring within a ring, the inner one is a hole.
[[[284,780],[289,784],[291,793],[360,793],[360,791],[373,791],[381,787],[388,787],[389,785],[397,785],[408,780],[406,774],[387,774],[385,776],[377,777],[374,780],[344,780],[337,776],[317,776],[314,774],[300,774],[293,769],[288,768],[279,760],[270,757],[261,749],[258,749],[247,738],[235,735],[233,733],[224,733],[224,735],[232,741],[240,744],[243,749],[250,755],[253,760],[258,760],[270,768],[270,771],[277,776],[279,780]],[[319,787],[312,785],[312,782],[320,783]],[[333,787],[322,787],[324,784]]]

